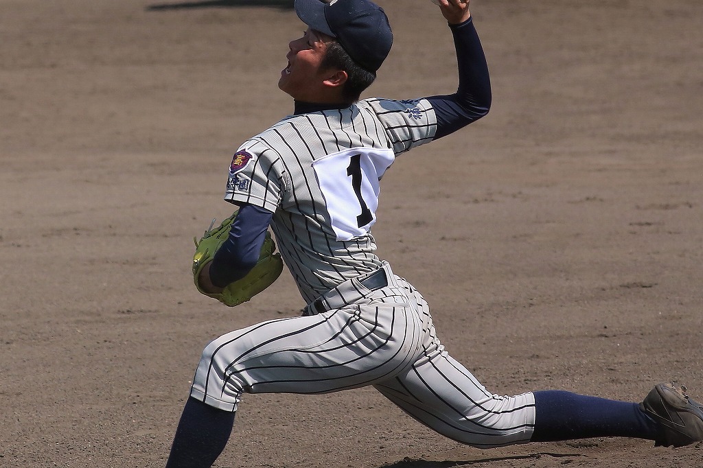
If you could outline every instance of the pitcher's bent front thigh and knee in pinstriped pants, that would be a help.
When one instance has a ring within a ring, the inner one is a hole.
[[[270,320],[215,339],[202,353],[194,388],[241,393],[318,394],[351,389],[407,368],[420,325],[403,306],[350,306]]]

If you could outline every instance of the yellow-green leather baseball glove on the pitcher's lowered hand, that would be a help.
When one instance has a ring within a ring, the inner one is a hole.
[[[283,271],[283,260],[280,258],[280,254],[273,253],[276,252],[276,242],[273,242],[271,234],[266,231],[266,238],[259,254],[259,261],[244,278],[231,282],[219,294],[210,294],[200,288],[200,283],[198,282],[200,271],[205,265],[209,264],[217,249],[228,238],[232,221],[236,218],[237,213],[234,212],[232,216],[222,221],[219,227],[214,229],[212,228],[215,222],[213,219],[210,228],[200,238],[200,242],[193,238],[195,242],[195,255],[193,255],[193,280],[195,281],[195,287],[205,296],[214,297],[214,299],[230,307],[238,306],[252,299],[252,297],[273,284],[278,279],[280,272]]]

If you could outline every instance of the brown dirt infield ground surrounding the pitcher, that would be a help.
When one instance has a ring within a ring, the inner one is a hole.
[[[160,467],[202,347],[295,315],[191,284],[231,153],[290,112],[290,2],[0,0],[0,465]],[[175,1],[175,0],[173,0]],[[383,0],[370,93],[456,86],[427,0]],[[703,398],[703,2],[475,0],[494,108],[384,179],[381,256],[489,389]],[[373,389],[247,396],[217,467],[699,467],[701,444],[481,451]]]

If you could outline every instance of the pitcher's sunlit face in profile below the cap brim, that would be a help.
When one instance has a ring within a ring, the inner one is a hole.
[[[325,74],[320,65],[330,40],[326,34],[308,29],[301,38],[290,41],[285,56],[288,66],[280,72],[278,87],[296,100],[321,102]]]

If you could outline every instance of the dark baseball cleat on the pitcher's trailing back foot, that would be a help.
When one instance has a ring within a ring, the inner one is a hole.
[[[703,441],[703,404],[685,391],[685,386],[659,384],[640,403],[645,414],[659,424],[655,447],[683,447]]]

